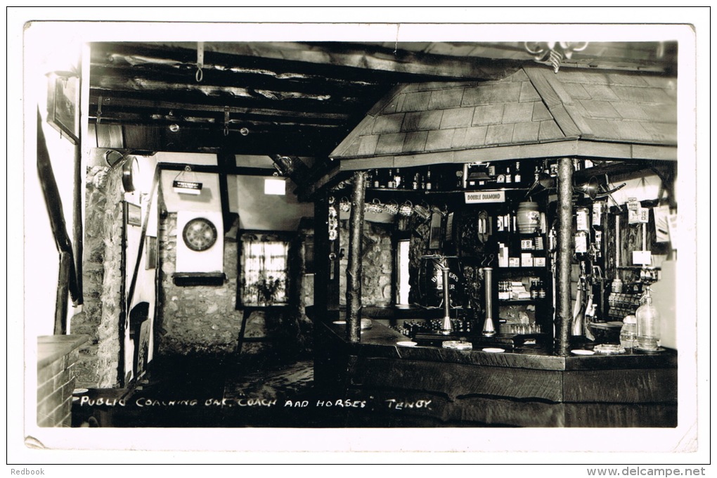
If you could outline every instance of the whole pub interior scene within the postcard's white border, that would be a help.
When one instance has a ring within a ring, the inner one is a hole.
[[[77,53],[37,426],[678,425],[676,42]]]

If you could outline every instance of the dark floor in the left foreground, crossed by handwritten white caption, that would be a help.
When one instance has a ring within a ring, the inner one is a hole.
[[[158,365],[123,405],[72,408],[72,426],[111,428],[346,428],[386,426],[361,401],[315,387],[313,360],[251,365],[172,360]],[[106,398],[106,395],[105,395]],[[116,398],[116,397],[115,397]],[[110,398],[113,400],[114,398]],[[407,426],[411,426],[407,424]]]

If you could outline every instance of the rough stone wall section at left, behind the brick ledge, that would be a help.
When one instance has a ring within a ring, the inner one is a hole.
[[[83,242],[82,312],[71,319],[71,333],[87,335],[75,365],[77,386],[112,388],[118,384],[123,236],[122,169],[87,168]]]

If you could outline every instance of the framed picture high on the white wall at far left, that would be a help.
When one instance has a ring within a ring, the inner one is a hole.
[[[80,143],[80,77],[71,72],[49,75],[47,123],[72,144]]]

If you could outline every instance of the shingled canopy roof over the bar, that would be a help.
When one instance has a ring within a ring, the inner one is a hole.
[[[675,146],[677,80],[523,67],[504,80],[399,85],[330,156],[395,159],[566,140]]]

